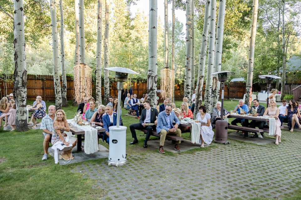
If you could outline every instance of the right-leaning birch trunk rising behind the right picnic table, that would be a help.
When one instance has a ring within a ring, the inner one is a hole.
[[[245,104],[250,108],[252,99],[252,84],[253,84],[253,66],[254,66],[254,50],[255,50],[255,37],[256,37],[256,26],[257,26],[257,14],[258,14],[258,0],[253,0],[253,14],[251,22],[251,36],[249,44],[249,63],[248,63],[248,74],[246,83],[246,100]]]

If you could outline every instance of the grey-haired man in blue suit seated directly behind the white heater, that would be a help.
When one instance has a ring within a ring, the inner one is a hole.
[[[103,115],[103,128],[106,129],[105,133],[102,133],[103,135],[103,141],[106,141],[109,143],[109,127],[110,126],[116,126],[117,125],[117,113],[113,112],[113,106],[107,105],[106,106],[106,115]],[[121,117],[119,121],[119,125],[121,123]]]

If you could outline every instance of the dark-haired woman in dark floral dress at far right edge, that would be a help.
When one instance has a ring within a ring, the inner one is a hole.
[[[288,130],[290,132],[293,132],[294,128],[301,128],[299,123],[300,110],[293,99],[289,101],[284,116],[288,116]]]

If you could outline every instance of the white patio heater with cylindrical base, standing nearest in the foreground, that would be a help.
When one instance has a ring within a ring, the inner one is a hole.
[[[123,89],[123,83],[128,79],[128,74],[138,74],[128,68],[111,67],[105,68],[109,71],[114,71],[115,80],[117,81],[118,89],[118,103],[117,103],[117,124],[116,126],[109,127],[110,141],[109,141],[109,157],[108,165],[124,165],[126,163],[125,154],[125,140],[126,140],[126,126],[119,126],[120,122],[120,102],[121,102],[121,90]]]

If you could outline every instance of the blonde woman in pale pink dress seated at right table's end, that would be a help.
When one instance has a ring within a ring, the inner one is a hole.
[[[273,99],[270,100],[270,106],[266,109],[266,111],[263,113],[263,115],[269,115],[276,119],[276,121],[275,121],[276,128],[275,128],[274,136],[276,136],[275,144],[278,145],[281,142],[281,129],[280,129],[281,122],[278,119],[279,108],[276,107],[276,101],[274,101]]]

